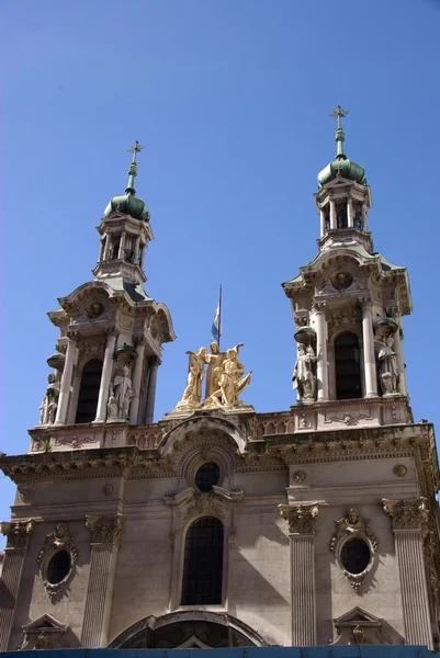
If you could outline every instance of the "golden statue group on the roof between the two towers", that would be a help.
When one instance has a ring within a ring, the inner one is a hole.
[[[238,407],[242,405],[239,394],[250,383],[252,373],[245,375],[245,367],[238,361],[239,343],[232,350],[221,352],[216,342],[211,343],[211,353],[206,348],[196,352],[187,352],[190,356],[187,388],[176,410],[198,409],[200,407]],[[206,371],[205,397],[202,401],[202,383]]]

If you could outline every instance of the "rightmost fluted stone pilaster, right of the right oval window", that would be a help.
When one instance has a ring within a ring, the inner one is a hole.
[[[426,498],[383,499],[382,503],[393,524],[406,644],[427,645],[428,649],[432,649],[422,545],[428,519]]]

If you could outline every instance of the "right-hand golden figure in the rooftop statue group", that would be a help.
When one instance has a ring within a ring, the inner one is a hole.
[[[242,343],[239,343],[232,350],[226,350],[222,365],[214,370],[218,388],[206,400],[206,406],[238,407],[241,405],[238,396],[250,384],[252,376],[252,373],[242,376],[245,367],[238,361],[241,347]]]

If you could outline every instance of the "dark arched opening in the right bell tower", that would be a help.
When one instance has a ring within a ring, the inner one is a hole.
[[[340,333],[335,340],[335,375],[338,400],[362,397],[359,340],[351,331]]]

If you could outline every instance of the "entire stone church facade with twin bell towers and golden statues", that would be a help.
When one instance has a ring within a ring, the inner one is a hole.
[[[371,191],[343,150],[319,174],[318,254],[283,283],[297,401],[258,413],[239,353],[189,353],[154,422],[167,306],[147,296],[150,216],[125,194],[94,279],[49,313],[56,352],[0,579],[0,650],[439,646],[439,467],[404,365],[408,276],[373,248]]]

